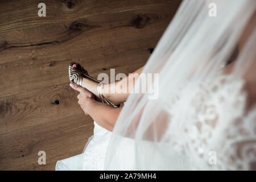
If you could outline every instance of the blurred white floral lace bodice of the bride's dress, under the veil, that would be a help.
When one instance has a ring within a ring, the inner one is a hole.
[[[180,169],[255,169],[256,110],[246,113],[243,80],[222,75],[206,85],[198,86],[185,117],[170,119],[172,150],[189,156],[193,164]],[[180,96],[183,98],[182,93]],[[183,101],[168,104],[170,115],[175,115],[173,108],[182,109],[179,102]],[[216,155],[215,164],[209,162],[211,154]]]

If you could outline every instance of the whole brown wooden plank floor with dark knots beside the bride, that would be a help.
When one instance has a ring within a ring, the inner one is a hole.
[[[93,121],[69,88],[68,65],[91,76],[146,63],[180,0],[0,1],[0,170],[53,170],[80,154]],[[38,152],[46,152],[46,165]]]

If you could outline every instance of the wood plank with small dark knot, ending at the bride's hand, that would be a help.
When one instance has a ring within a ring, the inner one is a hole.
[[[60,84],[1,98],[0,134],[82,114],[76,96],[68,84]]]

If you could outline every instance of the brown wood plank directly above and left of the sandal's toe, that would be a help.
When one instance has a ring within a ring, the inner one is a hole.
[[[127,12],[121,14],[126,16]],[[147,19],[150,15],[143,15],[143,17]],[[99,68],[101,64],[110,64],[108,65],[110,67],[113,62],[130,62],[130,57],[134,57],[131,54],[135,54],[141,55],[139,57],[142,57],[143,60],[134,61],[146,63],[150,55],[148,49],[155,47],[169,21],[170,18],[163,19],[162,22],[159,20],[160,23],[155,21],[155,23],[152,22],[144,28],[127,28],[126,25],[109,28],[92,23],[90,26],[97,28],[75,31],[77,35],[71,33],[71,38],[67,38],[69,31],[59,34],[63,39],[56,38],[53,34],[52,39],[49,38],[46,44],[40,41],[38,42],[40,45],[35,42],[31,43],[36,46],[28,46],[27,43],[23,43],[26,42],[25,40],[20,40],[20,42],[16,40],[16,43],[12,43],[11,40],[5,42],[0,52],[0,63],[2,63],[0,64],[2,89],[0,97],[39,89],[45,85],[54,85],[56,82],[67,82],[67,67],[71,60],[79,60],[81,64],[88,65],[88,68],[93,69]],[[126,24],[126,22],[123,22],[123,24]],[[155,26],[158,28],[155,28]],[[48,29],[51,30],[51,28]],[[52,29],[54,30],[54,28]],[[38,32],[42,31],[40,28],[35,28],[36,30]],[[26,38],[26,31],[23,32],[24,37],[20,39]],[[30,31],[27,30],[27,32]],[[51,32],[47,32],[47,34],[52,35]],[[36,32],[34,32],[34,35],[36,35]],[[42,35],[42,37],[44,36]],[[48,44],[49,42],[52,44]],[[122,59],[121,62],[120,58]],[[61,64],[58,64],[60,61]],[[54,66],[51,66],[52,63]],[[64,65],[66,66],[64,67]],[[40,77],[40,79],[35,82],[34,77]]]

